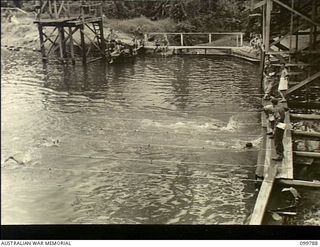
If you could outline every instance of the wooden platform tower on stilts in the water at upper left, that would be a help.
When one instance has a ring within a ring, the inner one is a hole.
[[[59,51],[61,61],[75,63],[76,48],[83,63],[105,58],[102,1],[43,0],[34,23],[43,61]]]

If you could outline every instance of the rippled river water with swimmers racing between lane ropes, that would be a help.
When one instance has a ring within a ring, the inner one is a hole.
[[[252,212],[256,65],[1,56],[2,223],[243,224]]]

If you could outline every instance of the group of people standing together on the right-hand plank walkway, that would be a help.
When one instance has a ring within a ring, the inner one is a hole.
[[[280,73],[277,73],[280,72]],[[277,156],[273,160],[281,161],[283,159],[283,134],[286,128],[285,112],[288,111],[287,107],[284,107],[278,102],[286,102],[286,92],[288,89],[288,70],[286,65],[281,64],[280,71],[276,71],[274,66],[271,66],[270,56],[265,57],[265,65],[263,71],[263,84],[264,84],[264,99],[270,100],[271,105],[264,107],[268,119],[267,135],[274,139],[274,145]],[[281,99],[275,97],[275,87],[278,86],[278,92]]]

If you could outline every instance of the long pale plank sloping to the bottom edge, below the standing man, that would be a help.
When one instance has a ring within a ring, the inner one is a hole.
[[[267,204],[270,198],[270,194],[272,191],[272,187],[275,181],[275,177],[277,174],[278,166],[274,163],[269,169],[268,173],[265,176],[262,185],[260,187],[260,191],[257,197],[256,204],[253,209],[253,213],[250,220],[250,225],[261,225],[264,214],[267,208]]]

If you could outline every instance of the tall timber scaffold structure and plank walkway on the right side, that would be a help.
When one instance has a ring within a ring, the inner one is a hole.
[[[292,121],[316,121],[320,124],[317,101],[312,101],[311,97],[313,89],[317,90],[317,85],[320,83],[320,63],[319,57],[316,55],[320,53],[320,37],[317,31],[320,27],[320,2],[316,0],[291,0],[290,6],[287,5],[287,2],[281,0],[252,0],[252,11],[260,9],[262,16],[263,45],[260,68],[264,68],[265,56],[269,55],[272,58],[271,66],[274,69],[279,68],[281,63],[287,65],[289,80],[294,81],[294,83],[289,83],[286,96],[288,105],[284,105],[288,106],[290,111],[286,113],[285,117],[284,158],[281,162],[274,161],[271,158],[275,153],[273,139],[266,136],[268,120],[264,112],[261,114],[264,137],[259,151],[256,176],[263,180],[251,215],[251,225],[267,224],[265,216],[270,201],[273,199],[272,193],[275,184],[297,188],[300,186],[320,188],[319,181],[296,178],[297,175],[294,171],[299,157],[307,157],[311,160],[320,159],[320,150],[298,151],[295,145],[296,141],[300,139],[319,141],[320,132],[296,130],[292,124]],[[276,33],[271,30],[271,21],[277,17],[276,13],[282,13],[281,11],[286,11],[290,15],[288,23],[283,23],[283,25],[287,25],[286,33]],[[301,35],[309,35],[309,40],[304,41],[304,47],[301,44],[303,42],[300,39]],[[289,42],[285,43],[285,40],[289,40]],[[262,73],[263,70],[260,72]],[[261,78],[263,80],[263,76]],[[263,85],[262,82],[261,85]],[[305,96],[299,103],[297,97],[301,98],[299,96],[301,94]],[[263,100],[262,104],[267,105],[270,102]],[[308,108],[301,108],[303,106],[308,106]]]

